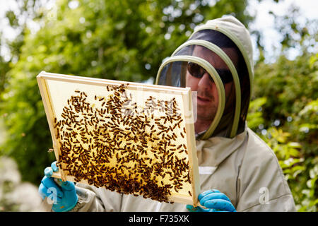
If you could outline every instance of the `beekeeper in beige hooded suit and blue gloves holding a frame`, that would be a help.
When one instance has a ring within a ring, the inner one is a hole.
[[[232,16],[197,27],[158,70],[157,84],[196,94],[199,201],[205,208],[73,182],[57,185],[50,177],[58,170],[55,162],[45,169],[40,195],[57,191],[54,211],[295,211],[276,155],[246,124],[253,76],[249,32]]]

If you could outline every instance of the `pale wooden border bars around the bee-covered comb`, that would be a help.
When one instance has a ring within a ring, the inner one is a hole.
[[[57,143],[56,137],[53,137],[56,135],[54,126],[52,125],[52,119],[54,119],[54,113],[52,109],[49,109],[51,107],[51,103],[49,102],[49,93],[47,90],[47,85],[45,84],[45,79],[51,79],[55,81],[65,81],[65,82],[71,82],[71,83],[86,83],[90,85],[121,85],[129,83],[129,87],[134,87],[140,89],[140,85],[142,87],[142,90],[162,90],[163,92],[165,90],[169,90],[170,93],[172,93],[174,90],[179,95],[182,95],[183,100],[183,107],[184,112],[186,112],[189,109],[192,109],[192,95],[191,95],[191,89],[190,88],[175,88],[165,85],[160,85],[160,89],[158,89],[158,85],[150,85],[150,84],[144,84],[144,83],[130,83],[126,81],[108,81],[106,79],[102,78],[88,78],[88,77],[81,77],[81,76],[67,76],[57,73],[47,73],[45,71],[41,71],[37,75],[37,83],[40,88],[40,93],[42,96],[42,101],[44,102],[45,112],[47,114],[47,121],[49,122],[49,129],[52,134],[52,141],[53,141],[53,148],[54,148],[54,154],[59,160],[60,155],[60,147],[59,143]],[[186,98],[188,97],[188,98]],[[187,105],[187,106],[186,106]],[[49,106],[49,107],[48,107]],[[193,114],[191,115],[193,121]],[[194,134],[194,123],[185,122],[186,132],[187,134]],[[198,202],[198,195],[200,193],[200,185],[199,185],[199,168],[198,168],[198,161],[196,157],[196,140],[195,137],[189,138],[187,136],[187,149],[189,151],[189,166],[190,166],[190,178],[192,180],[192,196],[184,196],[184,195],[177,195],[177,196],[170,196],[169,201],[177,201],[178,203],[184,203],[184,204],[192,204],[194,207],[200,206]],[[62,179],[63,181],[69,180],[74,182],[73,177],[64,174],[63,170],[60,169],[59,172],[54,172],[52,177]],[[80,182],[86,184],[86,182]]]

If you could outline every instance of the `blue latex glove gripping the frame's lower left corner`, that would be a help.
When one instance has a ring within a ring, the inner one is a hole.
[[[51,167],[45,168],[45,177],[39,186],[39,194],[42,199],[48,197],[52,201],[54,212],[66,212],[76,206],[78,197],[73,182],[62,182],[61,179],[52,178],[53,172],[58,170],[57,162],[52,162]]]

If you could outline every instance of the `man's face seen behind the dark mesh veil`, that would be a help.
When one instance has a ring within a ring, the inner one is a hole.
[[[235,49],[224,48],[223,51],[228,54],[228,57],[230,57],[233,64],[237,66],[237,53],[235,52]],[[217,54],[205,47],[194,47],[193,56],[205,59],[215,69],[228,69],[228,66]],[[210,125],[216,116],[216,111],[218,109],[218,90],[216,88],[216,83],[213,83],[209,77],[210,75],[208,73],[204,73],[201,78],[196,78],[187,71],[186,86],[191,88],[192,91],[197,91],[197,120],[194,124],[195,127],[197,127],[196,124],[200,124],[202,121],[206,121],[206,124]],[[225,83],[224,88],[225,101],[227,103],[225,106],[226,109],[228,105],[232,104],[235,96],[230,95],[230,93],[234,91],[234,88],[232,88],[232,81],[230,83]],[[228,99],[229,97],[230,99]],[[196,133],[200,132],[198,128],[195,129]]]

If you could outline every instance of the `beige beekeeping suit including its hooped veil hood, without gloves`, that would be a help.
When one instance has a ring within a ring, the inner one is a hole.
[[[223,49],[225,35],[235,43],[240,59],[235,64]],[[232,105],[223,79],[203,58],[194,56],[199,46],[218,54],[232,73]],[[212,77],[218,91],[218,108],[211,125],[196,134],[201,191],[218,189],[237,211],[295,211],[295,203],[278,160],[264,141],[246,125],[254,76],[249,32],[232,16],[209,20],[194,30],[158,70],[159,85],[186,86],[187,65],[193,62]],[[228,107],[232,106],[232,107]],[[180,203],[159,203],[141,196],[122,195],[103,188],[76,184],[78,203],[73,211],[187,211]]]

